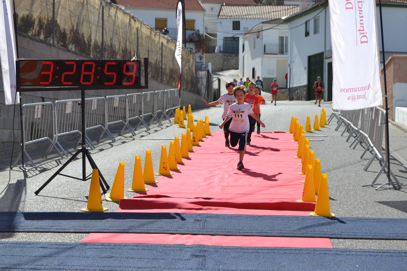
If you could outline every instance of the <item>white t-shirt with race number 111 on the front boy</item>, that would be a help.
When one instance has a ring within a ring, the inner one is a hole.
[[[232,104],[229,107],[227,117],[232,117],[229,130],[232,132],[249,132],[249,114],[253,114],[253,109],[247,102],[243,104]]]

